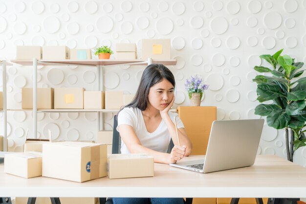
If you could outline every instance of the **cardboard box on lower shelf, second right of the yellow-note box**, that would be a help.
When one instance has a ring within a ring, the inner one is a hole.
[[[105,109],[120,109],[123,106],[123,91],[105,92]]]

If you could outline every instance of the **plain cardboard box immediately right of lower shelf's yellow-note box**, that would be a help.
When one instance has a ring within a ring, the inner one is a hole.
[[[104,109],[104,91],[84,91],[84,109]]]

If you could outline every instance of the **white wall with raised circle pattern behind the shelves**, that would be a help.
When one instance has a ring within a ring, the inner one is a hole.
[[[260,118],[254,115],[252,67],[264,64],[259,55],[281,48],[306,61],[305,11],[306,0],[0,0],[0,59],[15,59],[17,45],[115,49],[116,42],[135,42],[141,56],[141,39],[171,39],[175,107],[189,104],[184,82],[198,74],[210,85],[201,105],[217,106],[218,120]],[[106,90],[134,93],[144,67],[106,67]],[[20,109],[21,88],[32,86],[32,67],[7,70],[8,108]],[[92,67],[38,67],[38,87],[97,90],[98,77]],[[106,129],[112,129],[113,115],[104,115]],[[8,112],[10,150],[22,151],[27,128],[31,135],[30,111]],[[97,114],[39,113],[38,136],[44,138],[47,129],[54,140],[95,140]],[[265,124],[258,153],[285,157],[284,144],[284,131]],[[305,148],[295,161],[306,166]]]

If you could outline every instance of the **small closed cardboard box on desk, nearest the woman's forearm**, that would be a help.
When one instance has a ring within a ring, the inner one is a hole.
[[[109,179],[154,176],[154,159],[148,154],[109,155],[108,176]]]

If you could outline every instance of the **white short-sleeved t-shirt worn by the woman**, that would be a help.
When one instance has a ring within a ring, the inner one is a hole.
[[[169,116],[172,121],[174,116],[177,116],[177,113],[169,112]],[[176,117],[177,128],[184,128],[183,122]],[[141,110],[139,108],[131,108],[126,107],[120,111],[118,115],[118,127],[121,124],[131,125],[140,140],[140,143],[150,149],[153,149],[158,152],[167,152],[169,143],[171,140],[170,133],[168,131],[168,127],[164,120],[161,120],[160,124],[156,128],[156,130],[152,133],[147,131]],[[128,154],[130,153],[128,147],[121,140],[121,153]]]

